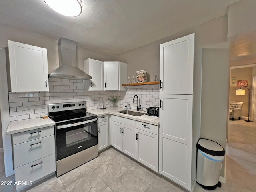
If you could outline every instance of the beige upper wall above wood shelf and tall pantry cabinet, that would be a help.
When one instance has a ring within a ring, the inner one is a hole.
[[[130,50],[116,56],[114,59],[128,64],[129,77],[135,76],[136,71],[138,70],[146,70],[148,73],[148,82],[152,82],[155,80],[155,74],[158,76],[159,80],[160,44],[195,33],[203,48],[229,48],[229,43],[227,42],[227,30],[228,16],[226,15]]]

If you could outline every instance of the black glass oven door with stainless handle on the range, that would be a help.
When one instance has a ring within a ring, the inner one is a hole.
[[[97,119],[55,126],[56,160],[98,144]]]

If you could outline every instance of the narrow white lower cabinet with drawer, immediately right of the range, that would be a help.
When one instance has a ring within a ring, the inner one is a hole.
[[[108,141],[108,115],[98,117],[98,149],[109,146]]]

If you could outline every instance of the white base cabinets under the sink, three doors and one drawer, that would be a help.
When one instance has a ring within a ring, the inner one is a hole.
[[[158,126],[111,116],[114,148],[158,172]]]

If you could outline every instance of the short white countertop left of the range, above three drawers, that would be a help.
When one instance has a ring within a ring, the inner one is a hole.
[[[34,130],[38,128],[53,126],[55,123],[50,118],[32,118],[18,121],[11,121],[8,125],[6,134],[20,133],[24,131]]]

